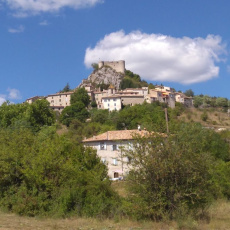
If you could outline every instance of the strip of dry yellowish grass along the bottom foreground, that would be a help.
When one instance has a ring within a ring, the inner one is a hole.
[[[20,217],[0,212],[0,230],[230,230],[230,202],[220,200],[212,205],[209,218],[195,221],[188,218],[176,222],[135,222],[84,218],[41,219]]]

